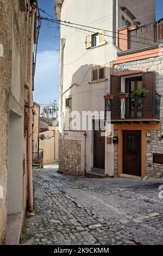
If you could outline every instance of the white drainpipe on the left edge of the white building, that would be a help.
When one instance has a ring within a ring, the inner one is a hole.
[[[60,49],[60,113],[59,113],[59,124],[60,130],[63,130],[62,123],[62,97],[63,97],[63,81],[64,81],[64,48],[65,48],[66,39],[61,38],[61,49]]]

